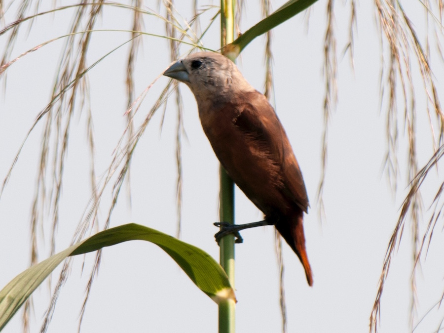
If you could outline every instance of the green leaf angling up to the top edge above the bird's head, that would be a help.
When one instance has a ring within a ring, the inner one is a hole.
[[[282,22],[287,21],[292,18],[296,14],[300,13],[302,10],[308,8],[317,0],[290,0],[283,4],[279,9],[277,9],[273,14],[264,18],[258,24],[248,29],[244,34],[239,36],[231,44],[225,46],[225,50],[222,53],[228,56],[230,59],[230,55],[234,54],[234,58],[236,58],[239,53],[247,46],[251,41],[253,41],[256,37],[266,33],[267,31],[273,29],[278,26]]]

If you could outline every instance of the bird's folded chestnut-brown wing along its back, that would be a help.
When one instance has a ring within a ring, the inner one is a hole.
[[[242,100],[245,104],[233,123],[245,134],[258,142],[267,157],[280,166],[282,192],[302,210],[307,212],[308,197],[293,149],[274,109],[259,92],[248,92]]]

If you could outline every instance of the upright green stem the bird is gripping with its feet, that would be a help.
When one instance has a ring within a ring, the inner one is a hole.
[[[221,0],[221,46],[234,40],[234,7],[235,0]],[[234,59],[231,59],[234,60]],[[221,166],[221,211],[223,222],[234,224],[234,183]],[[227,235],[220,242],[220,263],[234,288],[234,235]],[[219,304],[219,333],[235,332],[234,300],[226,300]]]

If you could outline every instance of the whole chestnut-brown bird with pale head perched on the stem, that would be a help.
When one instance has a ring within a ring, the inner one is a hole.
[[[309,207],[307,191],[284,127],[267,98],[230,59],[217,52],[191,53],[163,75],[191,89],[216,157],[264,214],[263,223],[251,224],[275,226],[298,256],[312,286],[303,229],[303,214]]]

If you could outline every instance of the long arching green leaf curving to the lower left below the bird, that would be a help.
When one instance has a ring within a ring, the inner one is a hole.
[[[226,299],[235,300],[228,277],[221,265],[208,253],[157,230],[131,223],[102,231],[17,275],[0,291],[0,331],[65,258],[132,240],[148,241],[162,248],[179,264],[191,281],[216,303]]]

